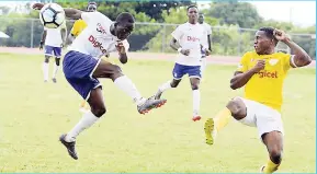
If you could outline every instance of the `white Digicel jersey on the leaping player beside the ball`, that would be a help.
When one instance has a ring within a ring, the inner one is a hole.
[[[110,32],[112,21],[100,12],[82,12],[82,20],[87,23],[87,27],[72,42],[69,50],[76,50],[94,58],[116,51],[115,45],[122,42],[125,49],[128,50],[127,40],[120,40]]]

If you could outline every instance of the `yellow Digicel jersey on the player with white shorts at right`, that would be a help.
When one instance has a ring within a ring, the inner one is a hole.
[[[283,83],[291,68],[291,55],[284,53],[258,55],[256,51],[248,51],[242,56],[237,71],[250,70],[260,59],[265,60],[265,67],[247,82],[245,97],[281,112]]]

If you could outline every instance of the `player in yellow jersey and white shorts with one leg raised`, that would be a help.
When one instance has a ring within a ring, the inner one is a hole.
[[[275,53],[278,42],[294,55]],[[214,118],[205,121],[206,143],[213,144],[217,132],[230,117],[258,128],[269,152],[263,173],[273,173],[282,161],[283,124],[281,118],[283,82],[291,68],[309,65],[312,58],[281,30],[261,27],[254,36],[254,50],[246,53],[230,80],[233,90],[245,86],[245,97],[234,97]]]

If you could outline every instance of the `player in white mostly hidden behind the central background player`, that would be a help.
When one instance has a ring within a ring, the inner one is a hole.
[[[202,48],[208,48],[210,51],[212,51],[212,26],[207,23],[204,22],[205,16],[203,13],[200,13],[199,16],[199,23],[205,28],[204,31],[204,37],[202,38]],[[204,70],[206,69],[207,66],[207,60],[206,60],[206,53],[204,49],[202,49],[202,66],[201,66],[201,73],[203,76]]]

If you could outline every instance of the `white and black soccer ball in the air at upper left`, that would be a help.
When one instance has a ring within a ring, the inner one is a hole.
[[[48,28],[57,28],[65,22],[64,9],[57,3],[47,3],[39,11],[41,23]]]

